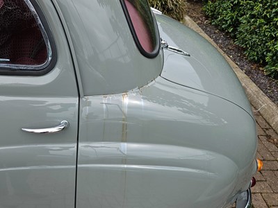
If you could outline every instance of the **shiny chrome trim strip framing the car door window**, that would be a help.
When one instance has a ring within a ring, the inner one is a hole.
[[[52,60],[52,50],[49,42],[49,37],[47,36],[47,31],[45,31],[44,26],[42,25],[42,21],[40,21],[40,17],[38,13],[36,12],[35,8],[33,7],[33,4],[30,0],[24,0],[28,8],[31,10],[33,17],[35,18],[35,21],[37,21],[38,26],[40,28],[40,32],[42,33],[42,37],[44,38],[44,43],[47,46],[47,60],[40,65],[24,65],[24,64],[3,64],[0,62],[0,67],[2,68],[10,68],[10,71],[13,70],[32,70],[32,71],[38,71],[41,69],[46,68],[51,60]]]

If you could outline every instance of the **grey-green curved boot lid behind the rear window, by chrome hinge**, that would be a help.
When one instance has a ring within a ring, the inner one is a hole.
[[[243,87],[222,55],[203,37],[178,21],[156,15],[161,38],[190,57],[164,51],[161,76],[179,85],[215,94],[243,107],[252,115]]]

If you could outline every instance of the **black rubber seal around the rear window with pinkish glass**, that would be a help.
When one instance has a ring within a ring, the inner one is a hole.
[[[152,13],[152,18],[154,20],[154,28],[155,28],[155,33],[156,33],[156,43],[155,43],[156,45],[154,47],[154,51],[152,53],[149,53],[149,52],[145,51],[145,49],[143,49],[142,45],[140,44],[140,41],[138,40],[135,28],[133,26],[131,17],[129,15],[129,10],[127,10],[127,8],[126,8],[126,3],[124,3],[124,0],[120,0],[120,3],[122,5],[122,10],[124,10],[124,16],[126,17],[126,21],[129,24],[129,28],[130,28],[131,34],[133,36],[133,40],[136,43],[136,46],[138,47],[140,53],[147,58],[156,58],[156,56],[158,55],[158,53],[161,49],[161,41],[160,41],[160,35],[159,35],[159,31],[158,31],[156,18],[154,17],[152,10],[150,10],[150,12]]]

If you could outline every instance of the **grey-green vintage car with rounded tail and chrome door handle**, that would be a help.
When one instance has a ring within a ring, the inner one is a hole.
[[[251,206],[254,116],[147,0],[0,0],[0,207]]]

